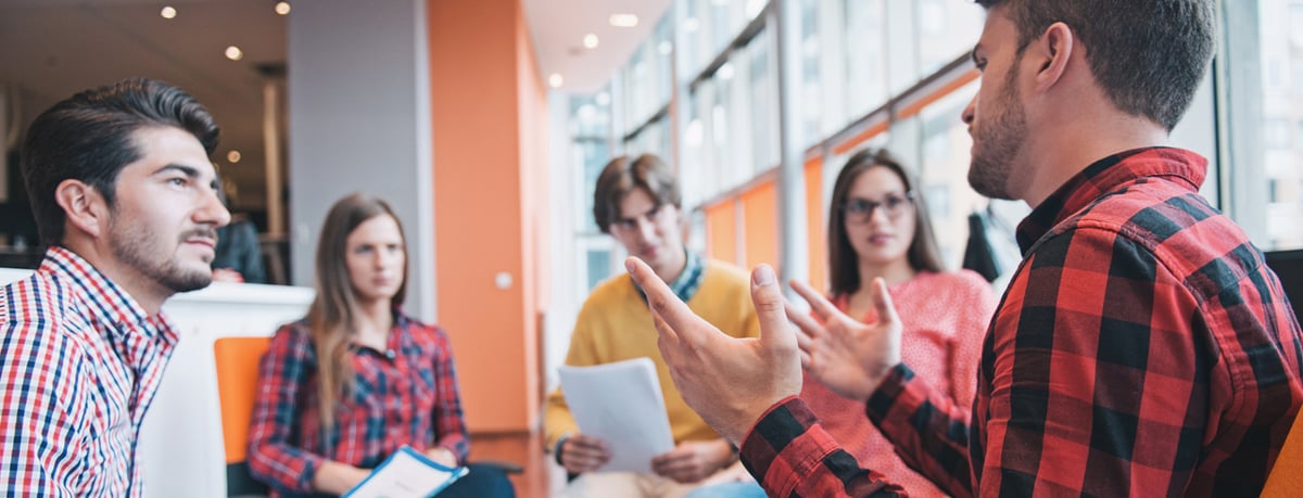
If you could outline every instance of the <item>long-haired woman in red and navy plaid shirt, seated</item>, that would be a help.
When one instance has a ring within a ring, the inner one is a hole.
[[[384,201],[344,197],[317,245],[308,317],[271,338],[258,373],[249,469],[272,497],[339,495],[404,445],[444,465],[469,451],[448,336],[401,310],[407,240]],[[513,497],[499,469],[439,497]]]

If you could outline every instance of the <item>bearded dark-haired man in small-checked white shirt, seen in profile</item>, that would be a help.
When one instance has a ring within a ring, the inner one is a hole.
[[[159,313],[206,287],[231,216],[212,116],[128,80],[43,112],[22,173],[46,258],[0,288],[0,494],[141,495],[141,421],[177,332]]]

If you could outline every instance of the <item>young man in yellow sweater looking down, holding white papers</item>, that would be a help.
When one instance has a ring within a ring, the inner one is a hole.
[[[687,250],[681,199],[674,172],[654,155],[611,160],[597,179],[593,215],[602,232],[648,263],[700,317],[719,327],[756,336],[760,325],[751,284],[740,269]],[[688,408],[657,349],[657,331],[646,299],[628,274],[593,289],[571,335],[567,365],[588,366],[649,357],[655,362],[675,448],[652,460],[652,475],[601,472],[611,448],[579,432],[560,388],[547,396],[545,430],[556,461],[579,478],[567,497],[691,498],[764,495],[758,485],[730,482],[736,450]],[[732,468],[731,468],[732,467]],[[736,472],[743,476],[744,472]],[[710,484],[710,485],[708,485]]]

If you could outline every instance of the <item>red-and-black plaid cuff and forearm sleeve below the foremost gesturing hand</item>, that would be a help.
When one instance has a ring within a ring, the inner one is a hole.
[[[743,439],[747,471],[770,497],[903,497],[898,485],[859,467],[796,396],[771,407]]]

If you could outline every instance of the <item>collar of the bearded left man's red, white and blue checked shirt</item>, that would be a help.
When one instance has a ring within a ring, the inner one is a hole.
[[[159,313],[150,318],[145,308],[121,286],[72,250],[50,246],[36,271],[48,272],[69,286],[96,321],[112,325],[115,331],[126,332],[138,329],[149,336],[163,332],[168,342],[176,340],[175,329],[167,315]]]

